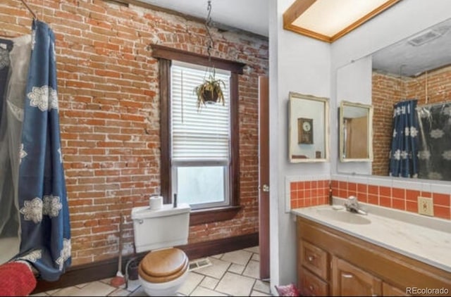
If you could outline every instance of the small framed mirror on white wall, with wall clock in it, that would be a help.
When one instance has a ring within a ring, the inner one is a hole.
[[[329,99],[290,92],[289,156],[291,163],[329,159]]]

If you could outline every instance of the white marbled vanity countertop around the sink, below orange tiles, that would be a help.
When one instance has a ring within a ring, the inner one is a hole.
[[[334,205],[342,204],[344,201],[345,199],[334,198]],[[296,208],[292,209],[291,213],[451,272],[450,220],[366,203],[359,204],[362,209],[368,210],[368,215],[362,217],[371,220],[370,224],[341,222],[319,214],[318,210],[332,209],[332,206]]]

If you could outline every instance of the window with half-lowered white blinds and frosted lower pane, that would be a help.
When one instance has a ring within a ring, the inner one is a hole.
[[[228,206],[230,201],[230,71],[215,74],[226,85],[225,105],[198,110],[193,90],[206,75],[198,65],[173,61],[171,66],[172,191],[179,203],[193,209]]]

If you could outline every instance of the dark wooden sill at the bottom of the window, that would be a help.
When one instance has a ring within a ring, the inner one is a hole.
[[[190,226],[231,220],[240,210],[241,206],[225,206],[221,208],[191,210]]]

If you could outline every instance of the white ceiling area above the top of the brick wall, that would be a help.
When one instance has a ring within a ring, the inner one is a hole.
[[[140,0],[205,19],[208,0]],[[269,0],[211,0],[211,20],[268,37]]]

